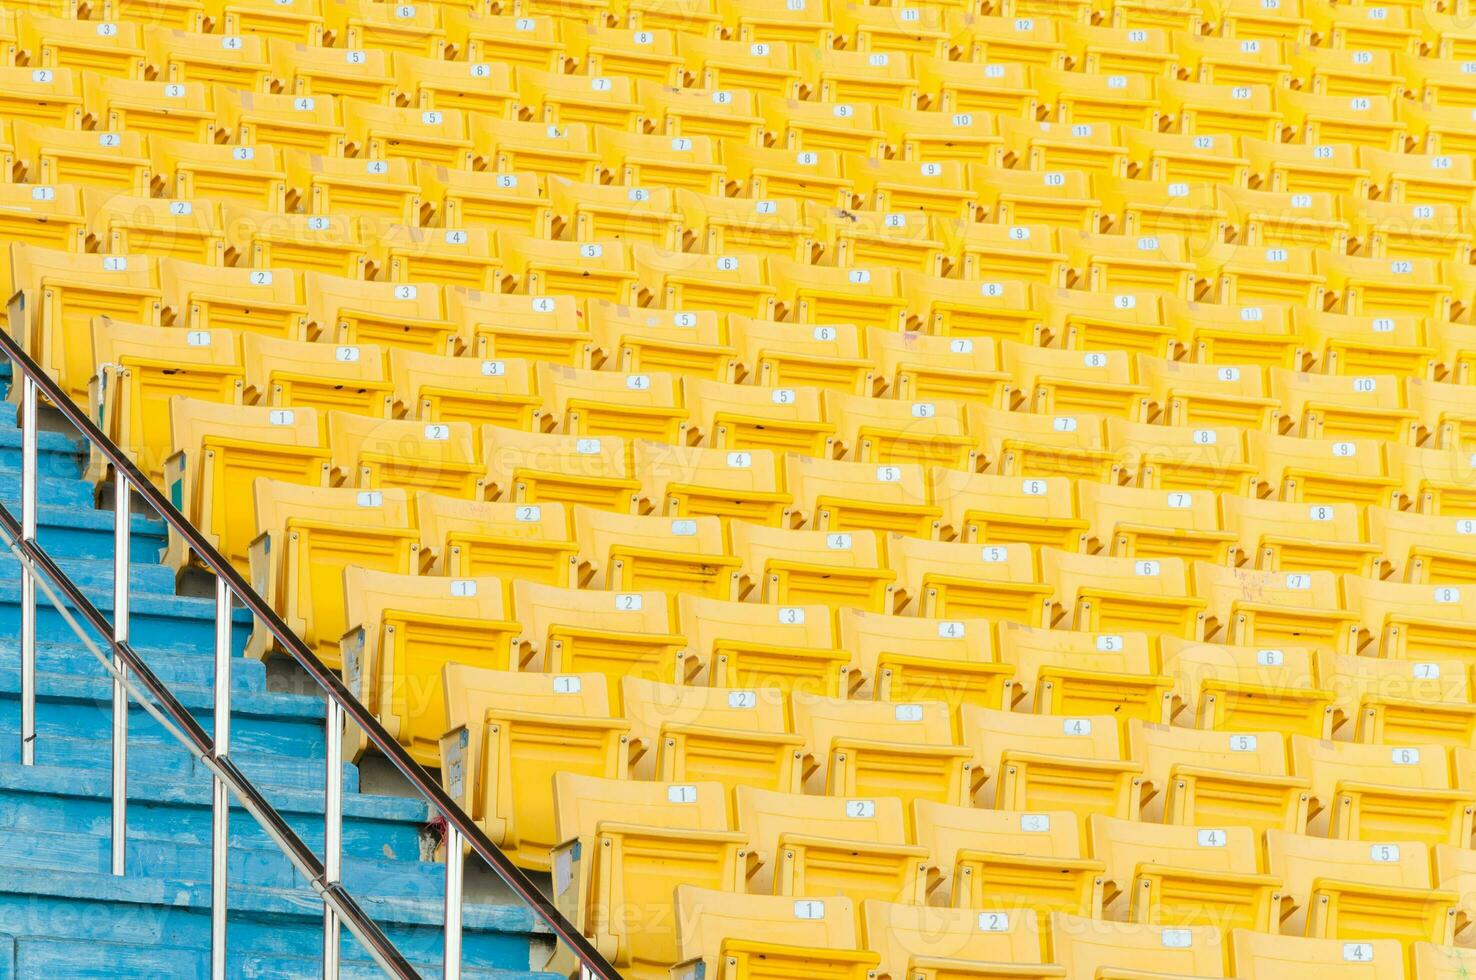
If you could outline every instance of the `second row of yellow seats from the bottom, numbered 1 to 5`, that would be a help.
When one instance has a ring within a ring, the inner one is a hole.
[[[1051,759],[1070,766],[1066,759],[1018,750],[1005,757],[1018,757],[1026,767],[1033,760],[1049,766]],[[1259,835],[1244,825],[1170,828],[1076,813],[1095,856],[1066,858],[1061,847],[1055,860],[1035,858],[1055,865],[1046,871],[1032,868],[1018,852],[992,855],[979,844],[987,840],[986,828],[996,834],[1008,828],[1005,834],[1014,831],[1010,837],[1018,840],[1030,824],[1076,822],[1070,812],[996,815],[933,810],[920,801],[917,827],[909,828],[905,818],[912,812],[887,797],[807,797],[739,787],[735,816],[729,816],[716,782],[635,782],[571,772],[556,772],[552,782],[559,841],[552,849],[555,899],[627,976],[660,976],[670,965],[676,930],[666,922],[672,921],[670,893],[679,886],[922,903],[930,872],[949,863],[921,840],[909,840],[922,838],[933,816],[945,829],[928,843],[958,849],[951,871],[965,880],[955,891],[964,893],[964,908],[1091,915],[1092,899],[1101,896],[1138,922],[1393,940],[1389,948],[1398,955],[1413,953],[1414,943],[1454,942],[1458,908],[1469,908],[1472,886],[1470,850],[1446,846],[1446,883],[1436,878],[1432,847],[1420,841],[1327,840],[1272,828],[1262,855]],[[1030,846],[1015,840],[1005,846]],[[989,891],[977,888],[968,878],[980,869],[1004,881],[984,883],[995,884]],[[1007,877],[1008,871],[1014,875]],[[1030,894],[1032,884],[1048,894]],[[611,893],[626,899],[618,911],[604,900]]]

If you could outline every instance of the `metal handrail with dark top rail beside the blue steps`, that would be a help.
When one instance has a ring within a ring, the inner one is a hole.
[[[27,313],[27,295],[18,292],[10,300],[10,308]],[[342,731],[344,720],[351,720],[363,729],[369,742],[373,744],[394,765],[396,769],[425,797],[440,818],[446,822],[446,915],[444,915],[444,976],[449,980],[459,980],[461,976],[461,900],[462,900],[462,865],[463,844],[481,856],[499,878],[523,900],[533,914],[548,925],[554,936],[567,943],[580,962],[582,977],[595,980],[620,980],[620,974],[595,949],[589,939],[564,917],[562,912],[545,896],[537,886],[523,872],[521,868],[502,853],[492,843],[487,834],[472,821],[455,800],[447,796],[441,785],[425,772],[425,769],[410,759],[404,747],[391,736],[379,720],[366,708],[344,685],[339,676],[326,667],[317,655],[282,621],[282,617],[263,599],[255,589],[241,576],[214,545],[211,545],[190,521],[155,487],[148,477],[134,465],[131,459],[80,409],[71,397],[47,375],[24,345],[7,331],[0,329],[0,356],[10,360],[13,372],[19,372],[22,384],[21,422],[22,422],[22,518],[15,517],[0,505],[0,528],[10,536],[21,553],[22,561],[22,617],[21,617],[21,646],[22,646],[22,762],[34,765],[35,742],[35,576],[37,570],[65,593],[74,608],[92,624],[97,633],[108,639],[114,663],[109,666],[114,676],[114,874],[123,872],[123,838],[125,834],[125,739],[127,711],[120,711],[120,704],[127,705],[127,688],[136,677],[149,697],[180,728],[186,747],[201,759],[202,765],[213,775],[213,843],[211,843],[211,973],[214,977],[224,977],[226,970],[226,813],[229,800],[227,790],[233,793],[242,806],[261,822],[267,834],[277,843],[286,856],[298,866],[298,871],[310,881],[311,887],[323,899],[323,970],[325,976],[335,976],[338,959],[338,924],[342,922],[359,937],[365,948],[379,961],[381,967],[393,976],[416,977],[413,967],[399,953],[384,931],[365,914],[363,908],[353,899],[339,881],[339,844],[342,840]],[[12,378],[12,384],[15,384]],[[115,494],[115,548],[121,546],[121,558],[115,556],[115,618],[109,623],[96,605],[83,595],[56,562],[35,540],[35,508],[37,508],[37,401],[44,396],[68,422],[112,465],[118,491]],[[128,500],[131,494],[139,494],[170,528],[177,533],[199,561],[215,574],[215,738],[211,738],[189,710],[179,703],[168,688],[149,670],[148,664],[137,655],[127,636],[127,568],[128,568]],[[121,596],[121,604],[118,598]],[[295,660],[303,670],[323,689],[328,701],[326,734],[328,734],[328,775],[325,782],[325,859],[319,862],[311,849],[303,844],[286,821],[267,803],[267,800],[230,760],[230,604],[232,599],[241,602],[276,639],[280,648]],[[120,611],[124,615],[120,615]],[[121,735],[121,745],[120,745]]]

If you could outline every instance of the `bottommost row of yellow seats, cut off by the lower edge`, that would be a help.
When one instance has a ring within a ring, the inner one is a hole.
[[[1054,912],[930,909],[868,899],[861,924],[849,899],[796,902],[679,886],[677,980],[781,976],[934,980],[1147,976],[1296,980],[1460,980],[1476,953],[1415,943],[1413,964],[1387,940],[1346,942],[1237,928],[1086,921]],[[1049,953],[1044,952],[1049,948]],[[1170,973],[1172,971],[1172,973]],[[664,974],[661,974],[664,976]]]

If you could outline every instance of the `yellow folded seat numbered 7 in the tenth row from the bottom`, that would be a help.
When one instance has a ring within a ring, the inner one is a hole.
[[[673,137],[673,142],[677,139],[686,137]],[[753,252],[781,258],[810,254],[810,229],[801,221],[800,202],[793,198],[726,198],[677,189],[676,207],[682,213],[683,246],[700,248],[701,254]]]

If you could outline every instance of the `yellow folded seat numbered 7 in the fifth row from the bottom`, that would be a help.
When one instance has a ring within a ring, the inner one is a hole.
[[[1330,571],[1261,571],[1194,562],[1207,604],[1204,636],[1227,643],[1352,649],[1356,617],[1337,604]]]

